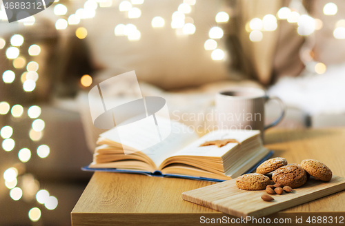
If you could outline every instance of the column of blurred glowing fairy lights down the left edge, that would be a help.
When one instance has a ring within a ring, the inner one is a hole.
[[[1,45],[3,45],[2,48],[5,47],[6,41],[4,39],[0,40]],[[13,69],[6,70],[3,72],[2,79],[4,83],[12,83],[16,78],[15,70],[26,67],[26,72],[21,74],[21,83],[23,83],[23,90],[25,92],[32,92],[36,88],[36,81],[39,79],[39,74],[37,73],[39,64],[35,61],[26,63],[26,58],[24,56],[19,56],[19,50],[23,42],[24,38],[20,34],[14,34],[10,38],[10,47],[6,50],[6,56],[10,61],[12,60],[14,71]],[[21,49],[21,51],[23,50]],[[31,57],[38,56],[40,52],[41,48],[39,45],[30,45],[28,48],[28,54]],[[11,114],[14,119],[20,119],[24,118],[25,112],[32,121],[28,136],[34,142],[41,140],[46,125],[42,119],[39,119],[41,107],[32,105],[26,108],[20,104],[15,104],[11,107],[6,101],[1,100],[0,102],[1,115]],[[14,152],[15,150],[16,142],[14,138],[12,138],[14,133],[15,131],[10,125],[1,127],[0,136],[3,138],[1,146],[5,152]],[[46,158],[49,154],[50,147],[48,145],[43,144],[37,147],[37,156],[39,156],[39,158]],[[28,147],[22,147],[18,151],[18,158],[21,163],[17,163],[3,172],[5,185],[10,189],[10,198],[14,201],[19,201],[22,198],[26,201],[31,201],[32,198],[36,198],[37,203],[44,205],[47,209],[55,209],[58,204],[57,198],[55,196],[50,196],[46,189],[39,189],[39,181],[37,181],[32,174],[27,173],[25,166],[23,166],[23,163],[30,161],[31,156],[32,150]],[[32,221],[39,220],[39,218],[41,218],[41,209],[39,209],[39,207],[32,207],[28,211],[28,217]]]

